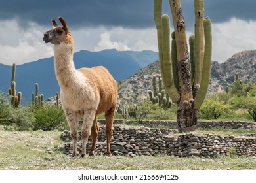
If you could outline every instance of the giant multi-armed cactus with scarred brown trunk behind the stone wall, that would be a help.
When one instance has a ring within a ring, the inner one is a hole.
[[[160,72],[165,92],[178,104],[179,131],[194,131],[211,73],[211,20],[204,18],[203,0],[194,0],[195,35],[189,39],[190,61],[181,2],[170,0],[174,25],[171,49],[170,20],[168,15],[161,14],[161,4],[161,0],[154,0]]]

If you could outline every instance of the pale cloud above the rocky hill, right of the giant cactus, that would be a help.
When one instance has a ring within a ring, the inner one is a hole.
[[[256,49],[256,21],[232,18],[212,25],[213,60],[226,61],[233,54]]]

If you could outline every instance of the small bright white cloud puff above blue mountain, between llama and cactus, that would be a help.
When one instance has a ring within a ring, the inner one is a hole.
[[[98,47],[95,47],[95,51],[101,51],[101,50],[105,50],[105,49],[116,49],[119,51],[127,51],[127,50],[131,50],[131,48],[129,48],[126,44],[127,41],[125,42],[112,42],[110,41],[110,33],[106,32],[106,33],[102,33],[100,35],[100,42],[98,42]]]

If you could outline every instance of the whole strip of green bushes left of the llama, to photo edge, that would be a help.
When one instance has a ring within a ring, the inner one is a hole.
[[[38,130],[50,131],[65,129],[66,118],[62,108],[43,105],[43,107],[13,108],[8,97],[0,92],[0,125],[12,130]]]

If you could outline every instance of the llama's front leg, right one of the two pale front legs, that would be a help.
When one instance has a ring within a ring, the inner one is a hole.
[[[83,116],[83,125],[81,131],[81,138],[82,138],[82,150],[81,150],[81,157],[85,157],[86,155],[86,144],[88,141],[88,137],[91,133],[91,127],[93,125],[93,120],[95,118],[96,110],[90,109],[85,110],[85,114]]]

